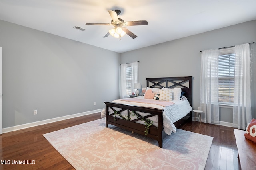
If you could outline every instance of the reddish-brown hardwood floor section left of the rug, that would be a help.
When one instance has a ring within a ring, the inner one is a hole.
[[[100,113],[0,135],[0,160],[6,161],[6,164],[0,164],[0,170],[74,169],[73,166],[71,166],[71,164],[44,138],[43,134],[96,119],[100,119]],[[10,164],[8,164],[8,160],[10,161]],[[14,160],[25,160],[25,163],[26,161],[28,161],[28,163],[31,161],[31,163],[34,164],[12,164],[12,161]]]

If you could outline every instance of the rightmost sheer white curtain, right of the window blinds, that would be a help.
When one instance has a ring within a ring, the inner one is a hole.
[[[235,51],[233,127],[246,129],[252,119],[249,44],[236,45]]]

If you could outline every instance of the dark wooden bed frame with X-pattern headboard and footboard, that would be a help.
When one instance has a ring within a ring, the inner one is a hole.
[[[147,87],[152,88],[178,88],[182,89],[182,92],[185,92],[184,96],[188,98],[190,106],[192,106],[192,76],[188,77],[166,77],[166,78],[146,78]],[[109,111],[116,111],[116,108],[121,109],[118,113],[122,111],[127,111],[127,117],[129,116],[130,111],[140,111],[144,113],[149,113],[150,115],[144,116],[144,118],[153,117],[155,115],[158,116],[158,127],[152,125],[148,131],[147,137],[153,138],[158,141],[158,146],[160,148],[163,147],[163,139],[166,137],[166,133],[163,130],[163,111],[164,109],[154,109],[150,107],[141,107],[129,104],[119,104],[114,102],[105,102],[106,104],[106,127],[109,124],[115,125],[117,127],[121,127],[123,129],[145,135],[145,125],[136,123],[143,119],[142,117],[135,120],[124,120],[121,118],[113,117],[114,113],[110,113]],[[174,125],[179,127],[186,121],[192,120],[192,112],[188,113],[182,119],[176,121]]]

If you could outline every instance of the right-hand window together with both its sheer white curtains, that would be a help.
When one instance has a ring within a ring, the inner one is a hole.
[[[202,51],[200,109],[205,122],[220,123],[219,106],[233,108],[233,126],[245,129],[250,122],[251,67],[249,44]],[[232,106],[232,107],[231,107]]]

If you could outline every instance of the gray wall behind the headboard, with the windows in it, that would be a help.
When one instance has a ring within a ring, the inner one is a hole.
[[[197,109],[200,94],[200,51],[254,41],[256,20],[128,51],[121,54],[121,63],[140,61],[139,82],[142,87],[146,87],[146,78],[193,76],[192,107]],[[255,104],[252,105],[252,117],[256,117]],[[220,121],[231,123],[232,119],[232,109],[220,108]]]

